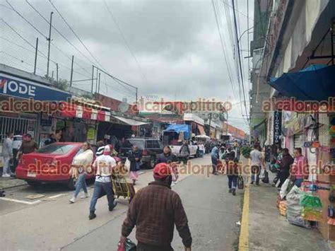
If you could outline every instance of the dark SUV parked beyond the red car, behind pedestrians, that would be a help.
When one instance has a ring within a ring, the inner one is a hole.
[[[137,146],[142,153],[141,167],[154,168],[158,154],[163,153],[163,144],[154,138],[130,138],[124,141],[119,151],[122,160],[127,158],[132,146]]]

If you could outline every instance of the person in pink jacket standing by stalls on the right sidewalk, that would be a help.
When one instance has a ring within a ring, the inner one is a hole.
[[[294,149],[294,162],[292,165],[291,176],[294,178],[294,185],[301,186],[304,178],[308,178],[307,158],[302,155],[300,147]]]

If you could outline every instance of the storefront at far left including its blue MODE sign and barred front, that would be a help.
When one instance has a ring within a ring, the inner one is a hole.
[[[5,71],[6,70],[6,71]],[[0,142],[7,132],[31,134],[40,142],[42,114],[52,114],[71,94],[52,87],[45,78],[0,67]]]

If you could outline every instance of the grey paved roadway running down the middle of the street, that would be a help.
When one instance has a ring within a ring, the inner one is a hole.
[[[192,160],[193,165],[208,165],[210,158]],[[140,176],[137,188],[152,180],[148,171]],[[233,197],[228,194],[227,177],[207,175],[182,175],[173,187],[180,194],[189,217],[194,238],[193,250],[235,250],[237,247],[242,192]],[[92,192],[92,191],[90,191]],[[35,200],[26,194],[45,194]],[[120,228],[128,204],[119,200],[117,208],[107,210],[107,201],[100,199],[97,215],[88,220],[89,199],[78,199],[69,204],[71,192],[64,187],[37,190],[20,187],[7,192],[8,198],[25,202],[0,200],[0,236],[2,250],[116,250]],[[50,198],[51,197],[51,198]],[[131,239],[135,240],[134,233]],[[177,233],[172,243],[182,250]]]

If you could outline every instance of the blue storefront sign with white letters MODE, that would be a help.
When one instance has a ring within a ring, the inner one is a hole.
[[[0,94],[40,101],[67,101],[71,98],[71,94],[65,91],[7,74],[0,74]]]

